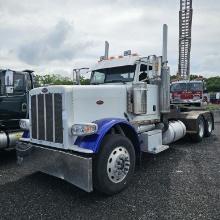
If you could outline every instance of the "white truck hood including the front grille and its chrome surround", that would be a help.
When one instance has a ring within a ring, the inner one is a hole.
[[[127,85],[49,86],[29,95],[32,142],[57,148],[74,147],[73,124],[125,118],[127,110]]]

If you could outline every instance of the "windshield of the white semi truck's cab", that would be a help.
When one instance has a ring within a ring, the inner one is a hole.
[[[112,82],[131,82],[134,79],[136,65],[105,68],[92,71],[91,84]]]

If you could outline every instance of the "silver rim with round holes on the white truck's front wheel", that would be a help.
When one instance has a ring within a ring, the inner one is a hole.
[[[122,182],[130,169],[130,155],[125,147],[116,147],[107,163],[108,178],[113,183]]]

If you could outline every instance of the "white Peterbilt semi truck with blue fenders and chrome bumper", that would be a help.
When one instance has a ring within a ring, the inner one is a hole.
[[[115,194],[130,183],[142,152],[160,153],[186,132],[197,141],[210,136],[211,112],[170,107],[167,25],[163,36],[163,56],[109,58],[106,44],[91,85],[31,90],[18,162],[87,192]]]

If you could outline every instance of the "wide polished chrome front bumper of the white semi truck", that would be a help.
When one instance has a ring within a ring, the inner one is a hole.
[[[93,191],[92,157],[18,142],[17,160],[22,166],[61,178],[87,191]]]

